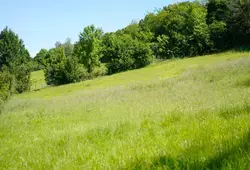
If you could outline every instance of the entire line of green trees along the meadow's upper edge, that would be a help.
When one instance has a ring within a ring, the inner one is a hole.
[[[32,59],[12,30],[0,33],[0,105],[29,90],[30,72],[43,69],[48,85],[79,82],[142,68],[155,59],[192,57],[250,45],[250,0],[171,4],[116,32],[94,25],[77,42],[57,42]]]

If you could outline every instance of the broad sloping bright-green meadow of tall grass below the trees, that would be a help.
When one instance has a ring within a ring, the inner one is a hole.
[[[13,97],[0,169],[248,169],[250,53],[173,60]]]

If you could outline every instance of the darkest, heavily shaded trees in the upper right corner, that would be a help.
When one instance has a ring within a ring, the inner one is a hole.
[[[250,1],[209,0],[207,23],[216,50],[250,44]]]

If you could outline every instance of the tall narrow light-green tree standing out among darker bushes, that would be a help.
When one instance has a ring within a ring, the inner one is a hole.
[[[94,25],[87,26],[80,33],[79,41],[75,44],[74,55],[87,68],[88,73],[100,65],[102,35],[102,29],[96,28]]]

